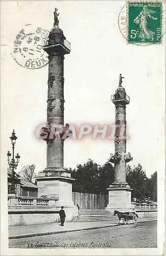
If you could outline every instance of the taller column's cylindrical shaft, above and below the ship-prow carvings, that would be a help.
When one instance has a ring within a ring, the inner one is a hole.
[[[49,55],[48,79],[48,123],[53,126],[64,122],[64,56],[51,53]],[[63,167],[63,140],[56,138],[47,144],[47,167]]]

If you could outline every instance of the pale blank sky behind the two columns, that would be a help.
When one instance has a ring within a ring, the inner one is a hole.
[[[1,78],[1,158],[8,167],[9,136],[15,129],[17,171],[35,164],[35,172],[46,167],[46,142],[35,136],[38,125],[46,122],[48,65],[23,68],[13,59],[13,42],[20,29],[32,24],[51,30],[54,8],[59,27],[71,43],[64,59],[64,123],[113,124],[111,95],[120,73],[130,96],[126,108],[127,152],[140,163],[148,177],[164,172],[164,43],[128,45],[118,27],[118,15],[125,1],[5,1],[2,2]],[[88,158],[104,164],[114,153],[113,140],[66,139],[64,166],[76,167]]]

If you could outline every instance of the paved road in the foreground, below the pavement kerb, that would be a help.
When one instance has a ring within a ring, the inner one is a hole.
[[[10,248],[151,248],[157,221],[9,240]]]

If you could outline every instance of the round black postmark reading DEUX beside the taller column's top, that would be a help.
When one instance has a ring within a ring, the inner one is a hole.
[[[20,29],[13,42],[12,57],[22,67],[39,69],[48,64],[48,54],[42,49],[49,31],[32,24]]]

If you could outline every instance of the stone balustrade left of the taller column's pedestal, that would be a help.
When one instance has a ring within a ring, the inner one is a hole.
[[[21,197],[8,195],[8,206],[56,206],[57,198]]]

